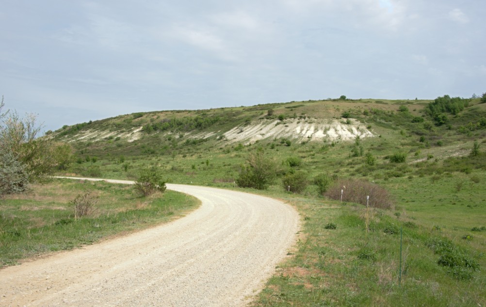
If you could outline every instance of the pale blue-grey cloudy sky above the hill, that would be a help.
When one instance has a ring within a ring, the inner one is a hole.
[[[5,0],[0,95],[44,130],[121,114],[486,92],[484,0]]]

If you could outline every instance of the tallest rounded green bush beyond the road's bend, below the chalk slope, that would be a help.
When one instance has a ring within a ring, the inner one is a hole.
[[[240,175],[236,179],[242,188],[265,190],[277,176],[277,164],[267,158],[263,148],[257,148],[248,154],[245,164],[240,166]]]

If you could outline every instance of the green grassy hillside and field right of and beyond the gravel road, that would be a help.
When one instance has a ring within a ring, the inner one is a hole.
[[[303,222],[299,241],[254,306],[485,306],[486,104],[470,100],[464,109],[447,113],[446,120],[428,115],[432,102],[328,99],[121,115],[80,129],[154,124],[154,130],[130,143],[110,137],[74,142],[76,161],[59,174],[135,179],[143,167],[155,166],[173,183],[238,189],[294,205]],[[273,138],[251,144],[221,138],[225,129],[268,118],[268,109],[272,118],[283,116],[283,124],[295,118],[356,118],[375,137]],[[219,119],[201,121],[209,117]],[[164,130],[171,118],[177,120]],[[198,132],[216,133],[188,139],[192,125],[200,125]],[[61,132],[66,137],[74,130]],[[471,155],[475,144],[479,152]],[[256,148],[277,163],[278,178],[266,191],[235,187],[241,164]],[[298,163],[291,166],[289,159]],[[308,179],[301,194],[286,192],[282,184],[293,172]],[[353,178],[379,185],[394,206],[366,211],[363,205],[326,198],[313,184],[321,174],[335,184]]]

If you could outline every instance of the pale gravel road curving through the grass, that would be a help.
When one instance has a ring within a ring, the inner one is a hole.
[[[131,183],[122,180],[107,180]],[[0,306],[244,306],[295,242],[275,199],[168,184],[202,201],[169,224],[0,270]]]

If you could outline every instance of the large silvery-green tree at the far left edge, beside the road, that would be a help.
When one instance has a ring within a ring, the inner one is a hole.
[[[38,137],[42,126],[36,116],[20,118],[16,111],[2,113],[0,103],[0,161],[2,166],[2,195],[23,192],[29,183],[42,182],[56,167],[66,167],[71,161],[70,145]],[[10,187],[10,188],[7,188]],[[15,187],[15,188],[14,188]]]

